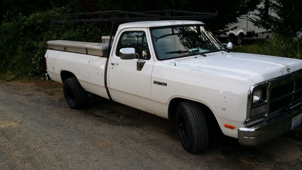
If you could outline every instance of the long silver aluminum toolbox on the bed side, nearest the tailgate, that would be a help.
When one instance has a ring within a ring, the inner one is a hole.
[[[66,40],[52,40],[47,41],[49,49],[67,51],[72,53],[86,53],[86,45],[88,44],[97,44],[89,42],[80,42],[80,41],[66,41]]]

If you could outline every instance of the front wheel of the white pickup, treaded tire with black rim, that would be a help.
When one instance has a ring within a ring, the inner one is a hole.
[[[190,153],[207,149],[209,135],[203,111],[197,103],[184,101],[176,109],[178,136]]]

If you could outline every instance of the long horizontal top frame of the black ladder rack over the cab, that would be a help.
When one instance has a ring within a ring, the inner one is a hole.
[[[177,15],[172,16],[171,12],[173,12],[174,14],[176,13]],[[164,15],[161,15],[160,13]],[[194,20],[194,19],[205,19],[205,18],[216,18],[216,17],[217,14],[214,13],[176,11],[176,10],[143,11],[143,12],[103,11],[103,12],[87,12],[87,13],[56,15],[53,17],[53,23],[55,24],[55,23],[119,22],[119,21],[125,23],[125,22],[135,22],[135,21]],[[68,18],[68,19],[60,19],[60,18]]]

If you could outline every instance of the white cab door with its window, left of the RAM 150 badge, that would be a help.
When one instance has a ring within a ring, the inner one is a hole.
[[[117,37],[109,67],[109,88],[113,100],[131,104],[153,112],[151,98],[151,73],[154,58],[150,53],[146,28],[124,29]],[[134,48],[143,68],[137,70],[136,59],[120,59],[122,48]]]

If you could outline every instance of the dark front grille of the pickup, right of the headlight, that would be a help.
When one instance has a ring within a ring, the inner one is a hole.
[[[301,100],[302,78],[300,78],[300,75],[296,75],[296,77],[293,76],[286,80],[274,82],[271,84],[270,94],[269,113],[281,111],[281,109]]]

